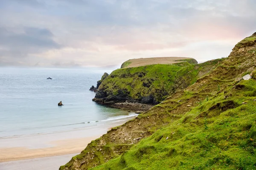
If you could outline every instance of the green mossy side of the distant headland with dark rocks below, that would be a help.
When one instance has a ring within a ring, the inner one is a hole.
[[[185,59],[172,65],[156,64],[113,71],[102,84],[95,101],[112,104],[134,100],[157,104],[175,91],[192,85],[200,75],[216,67],[219,60],[193,64],[194,59]]]

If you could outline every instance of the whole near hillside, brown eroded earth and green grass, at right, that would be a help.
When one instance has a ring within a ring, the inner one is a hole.
[[[253,170],[255,120],[256,33],[209,74],[112,128],[60,170]]]

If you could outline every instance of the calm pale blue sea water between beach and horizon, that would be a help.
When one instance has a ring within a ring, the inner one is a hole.
[[[92,102],[95,93],[88,89],[111,71],[0,68],[0,138],[69,131],[134,116]],[[64,106],[58,106],[60,101]]]

